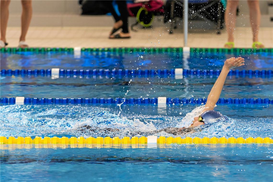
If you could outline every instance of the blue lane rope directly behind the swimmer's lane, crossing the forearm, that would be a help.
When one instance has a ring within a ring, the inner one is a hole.
[[[10,98],[1,98],[0,103],[4,105],[12,105],[15,104],[15,97]],[[120,104],[124,102],[124,104],[157,104],[158,98],[24,98],[24,104],[33,104],[33,105],[43,105],[43,104]],[[207,99],[186,99],[186,98],[167,98],[166,104],[206,104]],[[254,99],[254,98],[243,98],[243,99],[224,99],[220,98],[217,104],[273,104],[273,100],[266,99]]]

